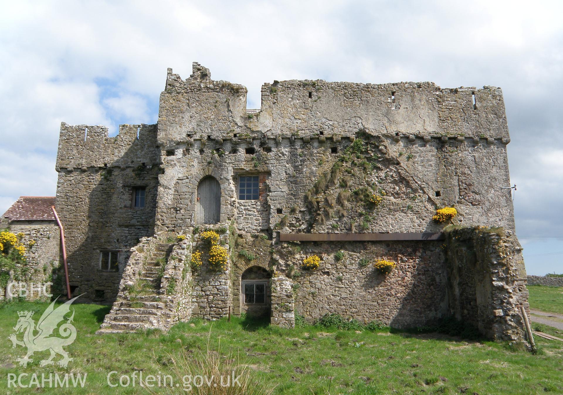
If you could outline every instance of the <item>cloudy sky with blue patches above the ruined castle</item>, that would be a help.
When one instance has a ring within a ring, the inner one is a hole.
[[[156,123],[166,69],[501,87],[529,274],[563,273],[563,2],[0,0],[0,213],[55,195],[61,121]],[[557,254],[555,254],[557,253]]]

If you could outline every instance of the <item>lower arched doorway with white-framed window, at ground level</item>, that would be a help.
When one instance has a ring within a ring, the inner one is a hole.
[[[240,312],[248,316],[270,316],[271,274],[261,266],[251,266],[240,277]]]

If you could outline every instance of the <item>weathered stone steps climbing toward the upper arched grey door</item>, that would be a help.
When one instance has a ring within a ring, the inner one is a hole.
[[[127,292],[124,298],[118,298],[96,334],[129,333],[138,329],[166,327],[164,316],[167,312],[160,299],[162,291],[159,273],[162,273],[160,267],[161,264],[166,264],[171,246],[172,244],[168,243],[159,243],[155,246],[138,279],[146,284],[142,294]]]

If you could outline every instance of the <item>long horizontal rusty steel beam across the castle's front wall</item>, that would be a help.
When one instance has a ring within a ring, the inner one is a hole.
[[[443,240],[442,232],[423,233],[280,233],[280,241],[417,241]]]

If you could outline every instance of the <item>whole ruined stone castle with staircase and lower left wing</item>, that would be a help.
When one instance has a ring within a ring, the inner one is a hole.
[[[522,336],[500,88],[288,80],[261,93],[248,110],[244,86],[194,63],[185,80],[168,69],[157,124],[115,137],[61,124],[70,285],[114,303],[102,333],[338,313],[398,328],[454,316]],[[444,207],[457,216],[434,221]],[[378,259],[396,266],[382,273]]]

